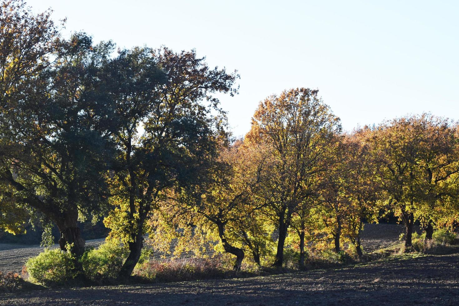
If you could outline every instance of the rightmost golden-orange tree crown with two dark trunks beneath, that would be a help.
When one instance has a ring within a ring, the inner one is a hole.
[[[408,251],[414,221],[421,222],[430,239],[437,211],[455,197],[448,191],[448,178],[459,171],[455,132],[446,119],[422,114],[381,125],[370,141],[383,166],[387,204],[405,224]]]

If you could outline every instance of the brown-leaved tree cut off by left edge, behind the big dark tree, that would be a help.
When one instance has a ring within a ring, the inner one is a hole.
[[[17,116],[17,104],[31,87],[37,73],[49,65],[56,51],[59,33],[50,20],[50,11],[34,15],[24,1],[0,4],[0,158],[11,145],[10,119]],[[15,189],[0,182],[0,228],[22,232],[27,210],[16,203]]]

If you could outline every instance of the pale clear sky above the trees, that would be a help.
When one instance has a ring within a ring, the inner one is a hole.
[[[345,130],[408,113],[459,119],[459,1],[28,0],[96,41],[195,48],[241,74],[223,97],[235,136],[258,102],[319,89]]]

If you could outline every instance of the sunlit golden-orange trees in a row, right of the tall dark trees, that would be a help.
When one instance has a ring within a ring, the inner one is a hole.
[[[246,138],[221,146],[199,202],[159,208],[152,233],[159,240],[168,233],[162,250],[171,238],[183,241],[177,253],[217,240],[238,269],[247,250],[260,264],[275,243],[273,265],[280,267],[288,237],[301,268],[307,243],[336,252],[354,245],[361,259],[364,222],[388,215],[405,226],[407,251],[415,221],[426,239],[434,228],[457,225],[456,124],[422,114],[343,134],[317,94],[290,89],[260,103]]]

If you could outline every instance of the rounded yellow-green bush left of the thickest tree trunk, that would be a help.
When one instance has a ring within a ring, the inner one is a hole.
[[[45,249],[26,262],[26,271],[33,283],[64,285],[78,276],[76,262],[70,252]]]

